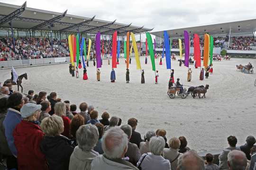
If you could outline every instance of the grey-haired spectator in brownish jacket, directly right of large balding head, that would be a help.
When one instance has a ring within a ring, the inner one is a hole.
[[[130,125],[122,125],[120,128],[128,136],[128,149],[127,149],[127,152],[125,153],[125,157],[128,157],[129,162],[131,162],[133,165],[136,166],[141,154],[138,150],[137,145],[129,142],[132,134],[132,128]]]

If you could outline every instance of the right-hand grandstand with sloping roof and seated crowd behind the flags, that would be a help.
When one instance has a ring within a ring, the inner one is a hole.
[[[183,42],[184,30],[187,30],[191,37],[191,52],[193,52],[193,34],[200,36],[201,50],[204,34],[210,34],[214,38],[215,53],[219,54],[225,49],[230,56],[256,57],[256,19],[167,30],[172,38],[172,51],[179,51],[178,39]],[[151,32],[151,34],[155,35],[158,47],[156,51],[162,51],[164,31]]]

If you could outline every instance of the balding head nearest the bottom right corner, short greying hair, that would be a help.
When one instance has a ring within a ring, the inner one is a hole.
[[[228,154],[229,170],[246,170],[247,158],[242,151],[233,150]]]

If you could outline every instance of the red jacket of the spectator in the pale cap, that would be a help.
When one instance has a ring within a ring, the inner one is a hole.
[[[13,131],[17,148],[18,170],[47,170],[46,157],[40,150],[45,134],[32,122],[22,120]]]

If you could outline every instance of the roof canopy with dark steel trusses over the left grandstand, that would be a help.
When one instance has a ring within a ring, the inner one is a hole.
[[[92,17],[79,17],[63,13],[46,11],[36,8],[28,8],[27,2],[21,6],[0,3],[0,27],[10,27],[21,30],[52,30],[62,33],[79,32],[96,34],[113,34],[115,30],[118,35],[126,35],[127,31],[139,34],[152,29],[131,26],[131,24],[119,24],[114,21],[103,21]],[[50,27],[51,26],[51,27]]]

